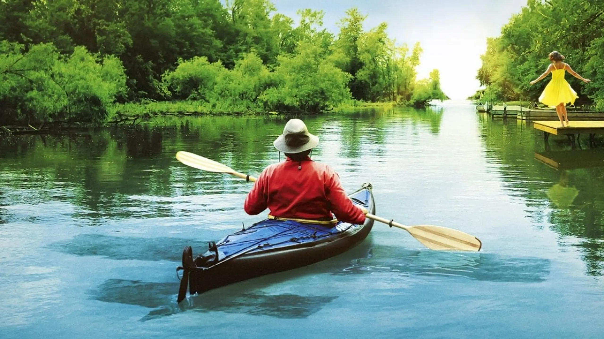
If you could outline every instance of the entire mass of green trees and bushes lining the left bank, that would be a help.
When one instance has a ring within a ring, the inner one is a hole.
[[[411,55],[346,11],[275,13],[268,0],[0,0],[0,119],[103,122],[116,102],[199,101],[210,112],[321,112],[350,100],[422,106]],[[430,89],[428,89],[430,87]]]

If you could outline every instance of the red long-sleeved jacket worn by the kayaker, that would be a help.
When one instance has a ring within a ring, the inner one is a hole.
[[[268,208],[274,217],[311,220],[332,220],[333,212],[341,221],[365,222],[363,211],[346,195],[338,174],[310,157],[302,162],[288,157],[284,162],[266,167],[243,208],[252,215]]]

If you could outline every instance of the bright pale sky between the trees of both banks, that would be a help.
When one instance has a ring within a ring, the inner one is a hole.
[[[440,72],[443,92],[452,99],[465,99],[480,87],[476,74],[486,38],[500,36],[501,27],[519,13],[527,0],[271,0],[278,13],[298,21],[296,11],[323,10],[324,27],[339,32],[336,23],[345,11],[357,7],[367,15],[364,30],[388,24],[388,36],[410,48],[423,48],[417,77]]]

